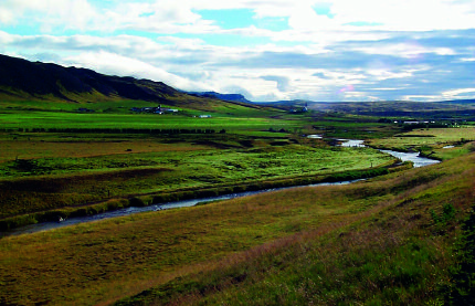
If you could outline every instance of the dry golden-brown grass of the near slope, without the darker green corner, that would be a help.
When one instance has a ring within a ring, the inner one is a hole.
[[[239,297],[242,286],[268,289],[262,279],[275,275],[268,284],[277,284],[277,272],[298,268],[299,262],[303,266],[321,263],[328,275],[344,282],[349,264],[345,254],[353,251],[379,254],[389,250],[388,254],[403,261],[405,253],[398,247],[408,239],[423,240],[429,250],[439,250],[436,243],[446,245],[443,239],[430,243],[428,233],[433,229],[426,226],[428,210],[439,210],[453,198],[465,213],[474,199],[474,165],[472,155],[429,167],[424,176],[413,170],[351,186],[293,189],[4,238],[0,240],[4,288],[0,302],[106,304],[151,286],[169,286],[170,279],[180,284],[187,275],[201,272],[212,281],[204,287],[207,298],[228,289],[230,296]],[[443,250],[437,252],[442,268],[452,263]],[[383,263],[378,264],[383,268]],[[247,276],[241,279],[240,275]],[[437,272],[428,278],[431,286],[441,275],[446,274]],[[374,293],[381,291],[372,276],[362,287],[371,283]],[[358,292],[365,298],[361,288]],[[202,297],[193,289],[187,294],[170,300],[188,304]]]

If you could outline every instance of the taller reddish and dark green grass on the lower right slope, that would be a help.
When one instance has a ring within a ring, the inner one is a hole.
[[[226,258],[208,273],[176,279],[117,305],[473,302],[469,294],[473,285],[468,281],[473,278],[469,274],[473,257],[467,257],[473,234],[465,230],[468,239],[464,239],[460,226],[467,215],[463,211],[468,209],[473,213],[474,194],[466,196],[475,190],[474,178],[472,168],[431,180],[430,186],[420,183],[407,190],[404,198],[381,201],[369,210],[347,215],[332,226],[325,224],[256,246]],[[398,178],[392,182],[401,183]],[[445,190],[442,194],[441,189]],[[446,201],[451,204],[440,204]],[[431,208],[446,215],[443,224],[429,213]],[[458,239],[464,241],[463,247],[454,246]],[[461,262],[462,270],[457,268]],[[461,272],[454,274],[454,271]]]

